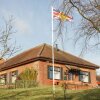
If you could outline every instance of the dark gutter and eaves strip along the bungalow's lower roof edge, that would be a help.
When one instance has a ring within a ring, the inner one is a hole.
[[[28,64],[28,63],[31,63],[31,62],[35,62],[35,61],[49,61],[49,62],[52,62],[52,59],[51,58],[46,58],[46,57],[32,58],[32,59],[29,59],[29,60],[26,60],[26,61],[23,61],[23,62],[20,62],[20,63],[17,63],[17,64],[13,64],[13,65],[6,66],[6,67],[1,67],[0,72],[4,71],[4,70],[7,70],[7,69],[15,68],[15,67],[18,67],[18,66],[22,66],[22,65],[25,65],[25,64]],[[82,68],[89,68],[89,69],[98,69],[98,68],[100,68],[99,66],[90,66],[90,65],[84,65],[84,64],[77,64],[77,63],[61,61],[61,60],[57,60],[57,59],[55,59],[55,63],[64,64],[64,65],[72,65],[72,66],[77,66],[77,67],[82,67]]]

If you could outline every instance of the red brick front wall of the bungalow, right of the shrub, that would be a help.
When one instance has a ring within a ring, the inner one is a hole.
[[[48,79],[48,66],[52,65],[51,63],[47,62],[39,62],[39,82],[42,85],[51,85],[52,84],[52,80]],[[64,76],[64,71],[68,70],[68,68],[65,65],[62,64],[55,64],[54,66],[57,67],[62,67],[63,68],[63,76]],[[79,76],[78,75],[74,75],[73,76],[73,80],[55,80],[55,83],[58,82],[59,84],[62,84],[63,82],[66,83],[72,83],[72,84],[88,84],[89,86],[95,87],[97,86],[96,83],[96,71],[94,69],[87,69],[87,68],[80,68],[80,70],[82,71],[86,71],[86,72],[90,72],[90,83],[83,83],[81,81],[79,81]]]

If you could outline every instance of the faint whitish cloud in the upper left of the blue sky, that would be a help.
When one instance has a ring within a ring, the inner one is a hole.
[[[14,18],[14,27],[18,31],[18,33],[25,34],[25,33],[30,33],[31,32],[31,28],[30,28],[30,25],[27,22],[27,20],[19,17],[17,14],[12,13],[12,12],[6,10],[6,9],[2,9],[0,11],[1,11],[0,16],[2,16],[6,20],[9,20],[9,17],[13,16],[13,18]]]

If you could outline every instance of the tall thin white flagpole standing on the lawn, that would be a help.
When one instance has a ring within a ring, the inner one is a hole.
[[[52,65],[53,65],[53,94],[55,94],[55,84],[54,84],[54,34],[53,34],[53,7],[52,11]]]

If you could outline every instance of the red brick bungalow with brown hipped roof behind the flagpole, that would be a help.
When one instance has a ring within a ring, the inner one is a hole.
[[[54,48],[55,84],[63,82],[97,86],[96,69],[99,66]],[[14,83],[25,68],[35,68],[40,85],[51,85],[53,78],[52,47],[42,44],[0,64],[0,83]]]

